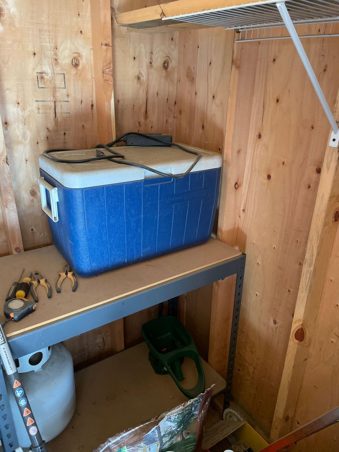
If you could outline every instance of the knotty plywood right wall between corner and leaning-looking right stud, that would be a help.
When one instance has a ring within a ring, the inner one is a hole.
[[[331,108],[339,86],[338,42],[303,41]],[[219,236],[247,254],[233,396],[269,433],[329,125],[291,42],[238,45]],[[210,359],[225,373],[223,353]]]

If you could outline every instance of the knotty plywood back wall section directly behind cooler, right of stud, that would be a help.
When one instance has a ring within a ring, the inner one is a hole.
[[[157,5],[156,0],[112,0],[114,14]],[[184,144],[222,153],[226,127],[233,32],[223,29],[140,33],[112,23],[117,136],[124,132],[169,133]],[[186,294],[186,320],[207,356],[211,289]],[[151,308],[124,319],[125,343],[141,340]],[[202,323],[204,325],[202,325]],[[202,334],[204,332],[204,334]]]

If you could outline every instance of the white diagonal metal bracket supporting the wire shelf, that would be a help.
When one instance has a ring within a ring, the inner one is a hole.
[[[311,66],[310,60],[308,59],[304,47],[302,47],[300,38],[298,36],[298,33],[296,32],[296,29],[294,28],[292,19],[287,11],[285,2],[278,2],[276,3],[276,6],[278,8],[278,11],[282,17],[282,20],[284,21],[284,24],[290,33],[291,39],[297,49],[297,52],[299,53],[299,56],[301,58],[302,64],[304,65],[307,75],[309,76],[311,83],[315,89],[315,93],[317,94],[320,104],[322,105],[324,112],[327,116],[327,119],[330,122],[330,125],[333,129],[333,133],[330,138],[329,145],[332,147],[337,147],[339,143],[339,128],[337,125],[337,122],[334,119],[334,116],[332,114],[332,111],[329,107],[329,104],[327,103],[327,100],[325,98],[325,95],[319,85],[318,79],[316,78],[316,75],[313,71],[313,68]]]

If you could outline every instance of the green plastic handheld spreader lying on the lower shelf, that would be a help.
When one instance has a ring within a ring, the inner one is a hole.
[[[197,347],[180,320],[170,315],[159,317],[142,325],[141,333],[150,349],[149,360],[157,374],[169,373],[188,399],[205,391],[205,373]],[[198,371],[198,382],[192,389],[185,389],[179,383],[184,380],[181,364],[185,356],[193,359]]]

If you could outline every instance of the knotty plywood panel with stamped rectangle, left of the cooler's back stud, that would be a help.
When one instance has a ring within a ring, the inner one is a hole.
[[[0,113],[28,250],[52,242],[38,156],[98,141],[89,1],[1,2],[1,26]]]

